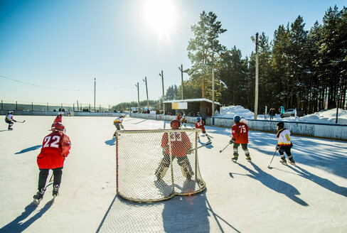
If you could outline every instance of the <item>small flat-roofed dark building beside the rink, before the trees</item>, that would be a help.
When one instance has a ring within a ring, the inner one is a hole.
[[[165,114],[176,115],[184,112],[187,116],[212,116],[212,101],[210,99],[175,99],[164,101]],[[220,103],[215,102],[215,110],[220,112]]]

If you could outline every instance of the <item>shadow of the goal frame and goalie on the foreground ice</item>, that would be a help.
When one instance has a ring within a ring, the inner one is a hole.
[[[116,195],[97,232],[210,232],[210,221],[218,232],[240,232],[213,211],[205,191],[153,203],[129,202]]]

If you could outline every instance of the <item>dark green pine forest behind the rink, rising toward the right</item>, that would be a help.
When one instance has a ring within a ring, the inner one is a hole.
[[[227,48],[218,38],[227,31],[218,16],[203,11],[200,21],[191,26],[188,41],[191,67],[184,72],[183,98],[212,99],[212,70],[215,76],[215,101],[225,106],[255,107],[256,53],[242,58],[240,49]],[[335,6],[326,10],[309,31],[304,18],[281,24],[273,40],[259,33],[258,112],[265,106],[297,107],[306,114],[322,109],[346,109],[347,86],[347,10]],[[166,90],[165,100],[181,99],[181,85]],[[150,107],[162,108],[162,99],[150,101]],[[140,102],[141,107],[147,103]],[[126,110],[137,102],[121,103],[115,109]]]

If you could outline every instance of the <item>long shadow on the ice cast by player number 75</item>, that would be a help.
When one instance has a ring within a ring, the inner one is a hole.
[[[246,166],[237,163],[240,167],[247,170],[251,175],[247,175],[250,178],[253,178],[255,180],[260,181],[263,185],[267,186],[268,188],[271,188],[272,190],[276,191],[277,193],[283,193],[290,199],[292,199],[294,202],[297,202],[300,205],[308,206],[304,200],[301,200],[297,195],[300,195],[299,190],[297,188],[294,188],[294,186],[290,185],[289,183],[285,183],[282,180],[278,180],[277,178],[274,178],[274,176],[270,175],[269,173],[265,173],[262,169],[260,169],[255,163],[251,163],[253,168],[255,168],[256,171],[247,168]]]

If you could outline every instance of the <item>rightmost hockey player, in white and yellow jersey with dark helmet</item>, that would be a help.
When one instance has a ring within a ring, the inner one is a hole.
[[[290,140],[290,131],[284,128],[284,122],[280,121],[276,124],[277,128],[277,146],[276,150],[279,152],[279,156],[281,156],[281,162],[284,165],[287,165],[286,156],[284,156],[284,152],[288,156],[289,163],[295,165],[294,158],[292,153],[290,152],[290,148],[293,147],[292,141]]]

